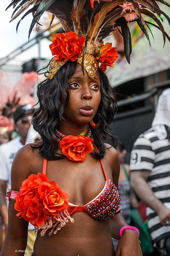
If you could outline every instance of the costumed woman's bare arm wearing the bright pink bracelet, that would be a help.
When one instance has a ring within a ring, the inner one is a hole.
[[[120,166],[119,156],[114,148],[109,150],[108,160],[113,170],[113,183],[118,188]],[[116,256],[142,256],[141,246],[136,231],[130,229],[124,230],[122,237],[120,238],[119,236],[121,227],[128,225],[123,215],[121,213],[115,214],[115,216],[111,218],[110,223],[111,236],[115,239],[120,239],[116,250]]]

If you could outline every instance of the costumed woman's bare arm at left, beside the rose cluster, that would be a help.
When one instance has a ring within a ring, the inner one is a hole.
[[[19,191],[23,180],[29,176],[30,145],[21,148],[12,163],[11,186],[12,190]],[[10,199],[8,206],[8,229],[1,256],[16,256],[16,252],[24,255],[27,245],[28,222],[16,216],[18,213],[14,209],[15,200]]]

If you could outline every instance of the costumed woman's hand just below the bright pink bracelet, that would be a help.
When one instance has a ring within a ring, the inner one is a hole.
[[[115,256],[142,256],[139,237],[136,231],[130,229],[123,231]]]

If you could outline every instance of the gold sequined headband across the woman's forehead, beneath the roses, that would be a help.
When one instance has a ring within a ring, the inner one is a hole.
[[[78,56],[76,58],[76,62],[78,62],[79,64],[82,65],[82,58],[83,55]],[[53,76],[57,73],[57,71],[59,70],[59,68],[61,68],[68,60],[51,60],[50,63],[50,68],[49,68],[49,74],[48,74],[48,78],[52,79]],[[84,69],[86,70],[88,76],[90,77],[90,79],[93,79],[96,71],[98,69],[98,61],[96,60],[96,58],[92,55],[92,54],[85,54],[84,55]]]

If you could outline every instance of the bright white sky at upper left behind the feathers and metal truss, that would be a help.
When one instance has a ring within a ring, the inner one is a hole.
[[[32,14],[29,14],[27,17],[21,21],[18,34],[16,32],[16,24],[20,20],[21,17],[17,18],[13,22],[9,23],[11,18],[13,8],[11,7],[7,11],[5,11],[8,4],[10,4],[10,0],[1,1],[0,3],[0,17],[1,17],[1,33],[0,33],[0,58],[5,57],[10,52],[21,46],[21,44],[28,41],[28,31],[29,25],[31,24]],[[31,37],[36,35],[36,32],[33,31],[31,33]],[[51,58],[51,52],[49,50],[50,41],[47,39],[41,40],[41,57],[42,58]],[[31,47],[29,50],[26,50],[19,56],[17,56],[14,60],[8,62],[8,64],[18,63],[21,64],[27,60],[38,57],[38,46],[35,45]]]

